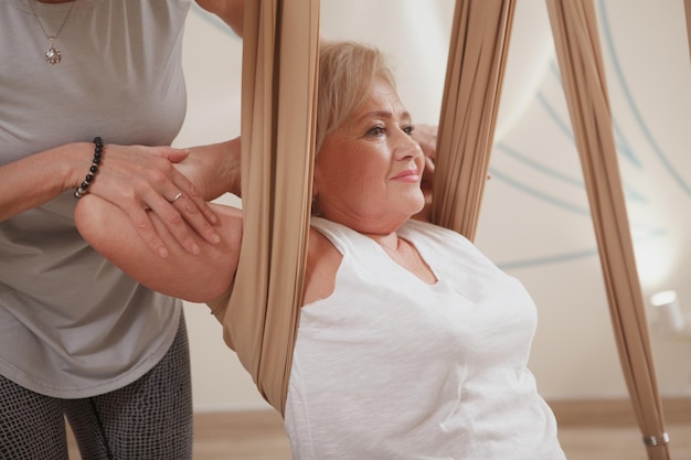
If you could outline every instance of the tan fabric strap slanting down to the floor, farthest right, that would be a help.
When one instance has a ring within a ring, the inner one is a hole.
[[[592,0],[548,0],[548,9],[619,360],[648,457],[668,460],[668,436],[619,178],[595,8]]]

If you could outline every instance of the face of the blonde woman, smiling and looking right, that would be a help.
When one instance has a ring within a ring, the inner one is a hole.
[[[395,231],[424,206],[424,156],[411,116],[394,89],[376,79],[366,103],[327,136],[315,161],[321,215],[361,233]]]

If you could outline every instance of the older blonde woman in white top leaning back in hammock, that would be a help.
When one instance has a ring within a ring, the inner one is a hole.
[[[459,234],[411,220],[425,156],[382,55],[321,46],[305,298],[285,426],[296,459],[530,459],[564,453],[527,368],[535,308]],[[231,282],[242,212],[220,245],[167,259],[86,196],[84,237],[149,287],[205,301]],[[163,225],[159,225],[163,238]],[[173,246],[174,247],[174,246]]]

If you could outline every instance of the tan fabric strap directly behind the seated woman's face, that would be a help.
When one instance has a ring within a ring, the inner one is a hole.
[[[475,238],[515,0],[457,0],[437,133],[435,224]]]

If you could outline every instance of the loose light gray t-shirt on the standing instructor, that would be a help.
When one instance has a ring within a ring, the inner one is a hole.
[[[72,6],[33,4],[51,35]],[[76,0],[54,44],[62,62],[51,65],[29,3],[0,1],[0,164],[95,136],[169,145],[187,108],[181,46],[189,7]],[[64,398],[143,375],[167,352],[181,314],[179,300],[143,288],[86,245],[75,204],[68,191],[0,222],[0,374]]]

